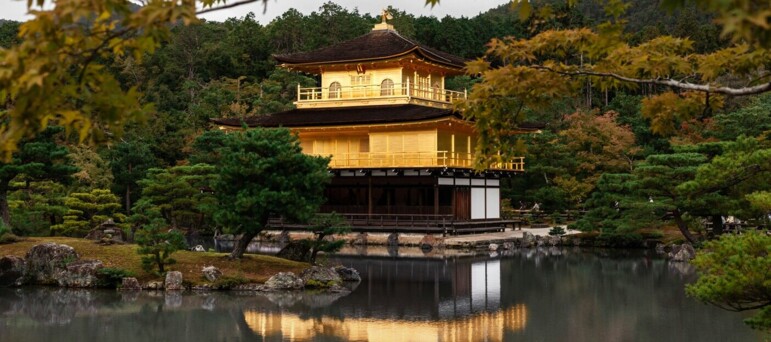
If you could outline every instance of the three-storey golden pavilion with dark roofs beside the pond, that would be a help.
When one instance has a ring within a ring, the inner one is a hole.
[[[321,79],[298,85],[296,109],[214,124],[286,127],[304,153],[331,156],[321,211],[344,215],[355,231],[503,229],[501,178],[523,172],[524,159],[475,172],[474,125],[452,109],[466,93],[445,88],[466,61],[401,36],[386,17],[363,36],[274,56]]]

